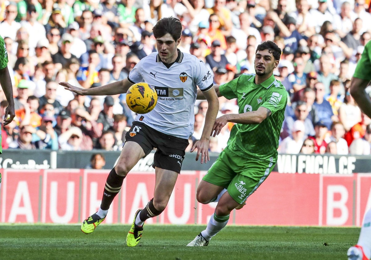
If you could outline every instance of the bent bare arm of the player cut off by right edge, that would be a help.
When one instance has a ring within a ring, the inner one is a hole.
[[[350,94],[363,113],[371,117],[371,100],[365,91],[368,83],[370,83],[369,80],[353,77],[350,85]]]

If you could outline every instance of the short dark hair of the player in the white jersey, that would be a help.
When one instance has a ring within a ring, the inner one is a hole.
[[[153,26],[152,32],[156,39],[169,33],[177,41],[182,33],[182,24],[179,19],[173,16],[164,17]]]

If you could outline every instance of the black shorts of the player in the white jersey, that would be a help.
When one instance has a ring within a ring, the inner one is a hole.
[[[138,143],[147,156],[154,148],[153,168],[158,167],[180,173],[188,139],[161,133],[146,124],[134,121],[125,140]],[[145,157],[144,156],[144,157]]]

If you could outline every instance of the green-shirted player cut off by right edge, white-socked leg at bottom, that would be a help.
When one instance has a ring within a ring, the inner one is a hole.
[[[361,59],[353,74],[350,85],[350,94],[363,113],[371,117],[370,96],[365,89],[371,81],[371,41],[365,45]],[[361,233],[358,243],[348,249],[348,260],[369,260],[371,257],[371,209],[368,209],[364,215]]]

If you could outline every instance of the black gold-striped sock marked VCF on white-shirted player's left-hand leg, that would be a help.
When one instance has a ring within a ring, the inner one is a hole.
[[[119,176],[115,168],[109,172],[107,177],[106,185],[104,186],[104,192],[102,196],[101,209],[107,210],[114,200],[115,196],[121,190],[122,182],[124,182],[125,176]]]

